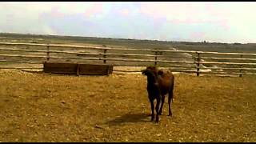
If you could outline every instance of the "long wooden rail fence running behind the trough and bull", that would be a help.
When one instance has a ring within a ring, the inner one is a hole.
[[[42,66],[18,67],[6,63],[38,65],[43,62],[70,62],[71,60],[77,63],[110,63],[114,66],[154,65],[170,68],[175,72],[194,73],[197,76],[199,74],[236,74],[242,77],[242,74],[256,74],[256,54],[175,50],[174,48],[150,50],[0,42],[0,69],[43,69]]]

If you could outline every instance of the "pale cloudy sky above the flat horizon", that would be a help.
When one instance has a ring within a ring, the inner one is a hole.
[[[256,42],[256,2],[0,2],[0,33]]]

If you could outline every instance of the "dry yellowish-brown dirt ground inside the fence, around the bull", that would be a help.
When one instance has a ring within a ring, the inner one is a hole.
[[[0,70],[0,94],[0,142],[256,142],[255,76],[176,74],[158,124],[142,74]]]

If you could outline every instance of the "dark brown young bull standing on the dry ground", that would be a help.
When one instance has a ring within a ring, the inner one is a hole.
[[[158,115],[162,114],[162,106],[165,102],[165,95],[169,94],[169,116],[172,116],[170,110],[170,102],[174,95],[174,75],[169,70],[158,70],[155,66],[148,66],[146,70],[142,70],[142,74],[147,76],[147,92],[151,105],[151,121],[154,121],[154,99],[157,99],[156,110],[156,122],[159,122]],[[159,110],[159,105],[161,107]]]

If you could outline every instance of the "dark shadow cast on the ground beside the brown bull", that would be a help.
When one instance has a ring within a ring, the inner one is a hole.
[[[150,122],[150,114],[123,114],[120,117],[106,122],[106,124],[109,126],[116,126],[126,122]]]

